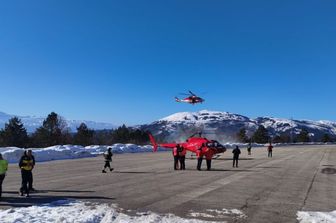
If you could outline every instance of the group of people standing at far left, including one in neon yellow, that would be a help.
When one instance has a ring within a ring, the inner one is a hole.
[[[19,168],[21,170],[21,187],[19,190],[20,196],[26,195],[29,197],[29,193],[35,191],[33,188],[33,173],[32,170],[35,166],[35,157],[32,150],[25,150],[19,161]],[[5,160],[0,153],[0,198],[2,195],[2,183],[6,177],[8,170],[8,161]]]

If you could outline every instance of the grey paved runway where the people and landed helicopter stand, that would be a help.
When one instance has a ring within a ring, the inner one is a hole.
[[[231,151],[213,161],[213,171],[173,170],[170,152],[116,154],[112,173],[101,173],[102,157],[37,163],[31,198],[18,196],[20,172],[11,164],[3,183],[0,208],[22,207],[60,199],[117,204],[119,208],[173,213],[227,222],[297,222],[297,211],[336,210],[336,146],[242,149],[239,168]],[[205,169],[205,162],[203,163]],[[238,209],[245,217],[223,214]],[[217,210],[217,211],[215,211]],[[212,216],[212,217],[211,217]]]

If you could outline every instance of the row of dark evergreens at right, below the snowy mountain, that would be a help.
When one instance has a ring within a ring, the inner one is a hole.
[[[281,133],[271,138],[268,130],[264,126],[259,126],[258,129],[254,132],[252,137],[248,137],[246,134],[246,129],[242,128],[237,133],[237,138],[239,142],[248,143],[255,142],[265,144],[268,142],[273,143],[297,143],[297,142],[310,142],[311,138],[309,132],[306,129],[302,129],[301,132],[296,136],[291,136],[289,133]],[[330,135],[324,134],[320,139],[320,142],[336,142],[336,139],[333,139]]]

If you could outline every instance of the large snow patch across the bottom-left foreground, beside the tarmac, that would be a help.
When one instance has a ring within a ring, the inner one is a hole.
[[[11,208],[0,211],[0,222],[62,222],[62,223],[205,223],[196,219],[184,219],[173,214],[158,215],[152,212],[129,216],[115,205],[95,204],[82,201],[60,200],[50,204]]]

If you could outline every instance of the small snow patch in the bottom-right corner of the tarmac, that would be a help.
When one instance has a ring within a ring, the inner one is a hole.
[[[297,220],[300,223],[335,223],[336,211],[332,212],[305,212],[299,211],[297,213]]]

